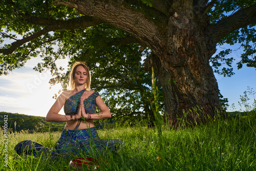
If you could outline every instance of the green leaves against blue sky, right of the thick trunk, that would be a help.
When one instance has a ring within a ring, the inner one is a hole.
[[[211,16],[210,23],[216,24],[219,20],[253,4],[255,4],[255,1],[252,0],[216,1],[214,6],[208,11],[208,15]],[[229,33],[219,42],[219,46],[223,46],[224,44],[241,46],[239,49],[242,49],[244,53],[241,54],[241,60],[237,62],[238,69],[241,69],[243,64],[246,64],[247,67],[256,68],[255,24],[248,25],[247,27]],[[229,77],[234,74],[231,66],[234,59],[233,57],[227,57],[227,55],[231,54],[231,52],[232,50],[226,49],[225,51],[221,51],[215,57],[211,57],[210,61],[212,62],[212,66],[215,68],[216,73]],[[224,67],[220,71],[220,66],[223,66],[224,64],[226,64],[229,68]]]

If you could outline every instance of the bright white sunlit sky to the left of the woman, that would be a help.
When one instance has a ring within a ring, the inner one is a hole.
[[[9,75],[0,77],[0,111],[35,116],[47,115],[55,102],[52,97],[61,86],[56,84],[49,89],[50,73],[32,70],[34,66],[31,67],[31,63],[35,64],[35,61],[30,62],[30,67],[16,69]],[[67,60],[62,60],[60,65],[67,68]],[[60,114],[63,114],[63,110]]]

